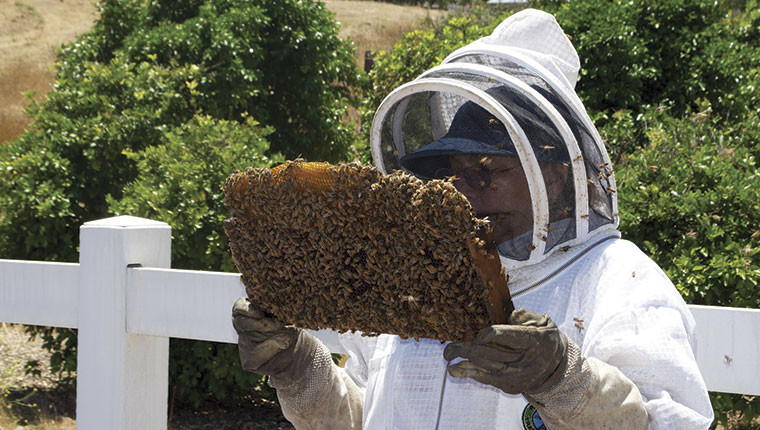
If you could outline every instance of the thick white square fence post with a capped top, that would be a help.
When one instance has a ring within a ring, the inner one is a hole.
[[[168,268],[171,228],[120,216],[79,231],[77,428],[166,429],[169,338],[126,331],[127,266]]]

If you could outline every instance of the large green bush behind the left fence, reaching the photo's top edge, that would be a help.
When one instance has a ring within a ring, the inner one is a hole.
[[[30,129],[0,148],[0,258],[76,261],[82,223],[128,212],[169,222],[175,267],[232,270],[223,178],[278,154],[347,158],[355,136],[342,118],[362,79],[351,44],[312,0],[99,8],[93,29],[60,50],[54,91],[28,109]],[[54,351],[55,370],[76,368],[73,331],[32,332]],[[178,399],[251,382],[234,355],[172,342]]]

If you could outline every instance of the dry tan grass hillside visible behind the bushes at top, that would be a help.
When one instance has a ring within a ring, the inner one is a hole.
[[[325,4],[341,23],[340,35],[355,42],[359,67],[364,51],[388,49],[424,20],[446,13],[374,1]],[[87,31],[95,18],[92,0],[0,0],[0,144],[29,124],[24,93],[50,91],[56,48]]]

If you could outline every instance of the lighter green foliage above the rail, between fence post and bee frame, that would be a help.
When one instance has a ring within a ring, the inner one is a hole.
[[[126,152],[138,175],[121,198],[107,197],[115,215],[163,221],[172,228],[172,267],[236,271],[223,222],[229,218],[222,188],[227,176],[248,166],[284,159],[264,155],[271,128],[195,117],[163,133],[161,144]]]

